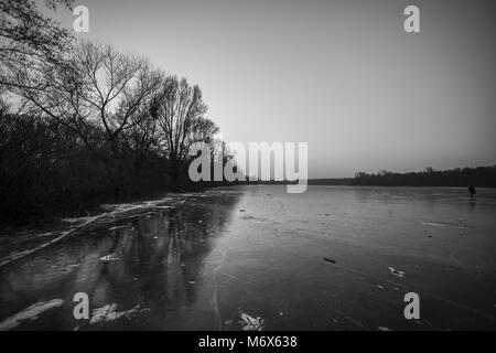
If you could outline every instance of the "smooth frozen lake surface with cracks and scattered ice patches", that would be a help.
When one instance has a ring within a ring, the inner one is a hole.
[[[441,188],[237,186],[127,205],[66,236],[3,239],[0,330],[495,330],[495,190]],[[77,292],[88,320],[74,318]],[[419,320],[403,317],[407,292]]]

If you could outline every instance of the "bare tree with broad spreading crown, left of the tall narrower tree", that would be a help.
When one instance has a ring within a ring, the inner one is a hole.
[[[110,45],[79,42],[67,65],[47,67],[42,76],[19,76],[19,79],[26,107],[77,135],[107,165],[117,194],[125,161],[121,137],[147,118],[142,107],[161,87],[162,72],[148,61],[119,53]],[[31,88],[24,81],[39,84]],[[101,131],[101,136],[95,136],[95,131]],[[112,160],[108,160],[107,151]]]

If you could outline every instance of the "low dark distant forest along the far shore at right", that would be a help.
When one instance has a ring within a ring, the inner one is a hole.
[[[381,185],[381,186],[468,186],[496,188],[496,165],[396,173],[381,170],[377,173],[358,172],[355,178],[313,179],[310,185]]]

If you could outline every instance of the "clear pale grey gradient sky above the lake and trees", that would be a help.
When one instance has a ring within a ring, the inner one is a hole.
[[[77,36],[200,85],[225,141],[308,142],[310,178],[496,164],[494,1],[75,4],[89,10]],[[409,4],[420,33],[403,30]]]

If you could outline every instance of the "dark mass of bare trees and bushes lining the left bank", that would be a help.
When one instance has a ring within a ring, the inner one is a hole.
[[[197,85],[76,41],[31,0],[0,10],[0,221],[176,190],[192,143],[219,148]]]

